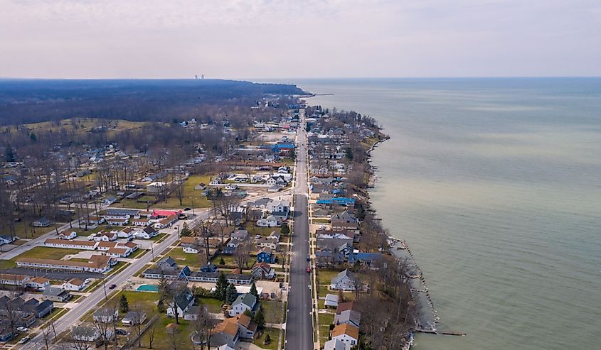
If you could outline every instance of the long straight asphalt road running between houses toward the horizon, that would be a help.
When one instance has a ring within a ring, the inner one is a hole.
[[[297,133],[296,187],[294,187],[294,235],[292,236],[292,263],[286,320],[285,349],[314,349],[311,307],[311,274],[309,261],[309,212],[307,187],[307,132],[304,110],[300,113]]]

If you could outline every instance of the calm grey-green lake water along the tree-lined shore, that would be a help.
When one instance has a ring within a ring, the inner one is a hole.
[[[601,79],[289,82],[391,136],[373,206],[467,332],[415,349],[601,349]]]

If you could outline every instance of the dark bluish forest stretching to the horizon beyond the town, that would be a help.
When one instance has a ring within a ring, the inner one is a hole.
[[[235,80],[0,80],[0,125],[72,117],[171,121],[208,106],[250,106],[266,94],[304,94],[292,84]]]

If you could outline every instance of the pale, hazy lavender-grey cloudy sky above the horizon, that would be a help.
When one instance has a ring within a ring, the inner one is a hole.
[[[0,77],[601,76],[599,0],[0,0]]]

